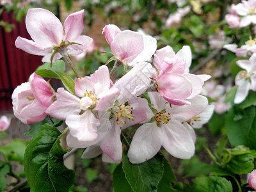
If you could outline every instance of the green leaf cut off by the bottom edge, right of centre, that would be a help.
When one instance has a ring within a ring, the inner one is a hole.
[[[196,177],[193,191],[195,192],[232,192],[232,184],[224,177]]]

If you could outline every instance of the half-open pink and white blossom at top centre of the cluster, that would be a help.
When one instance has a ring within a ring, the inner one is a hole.
[[[156,39],[152,36],[130,30],[121,31],[113,24],[106,25],[102,33],[116,58],[131,67],[149,60],[157,49]]]

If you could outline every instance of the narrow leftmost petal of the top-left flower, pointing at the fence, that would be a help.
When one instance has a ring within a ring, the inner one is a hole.
[[[40,44],[36,44],[36,42],[33,42],[32,40],[28,40],[20,36],[18,36],[16,39],[15,46],[19,49],[22,49],[23,51],[28,52],[29,54],[42,56],[51,53],[52,49],[52,47],[44,47]]]

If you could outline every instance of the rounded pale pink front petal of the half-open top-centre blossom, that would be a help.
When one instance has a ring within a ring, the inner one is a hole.
[[[126,63],[131,62],[143,51],[143,35],[134,31],[121,31],[110,45],[111,51]]]

